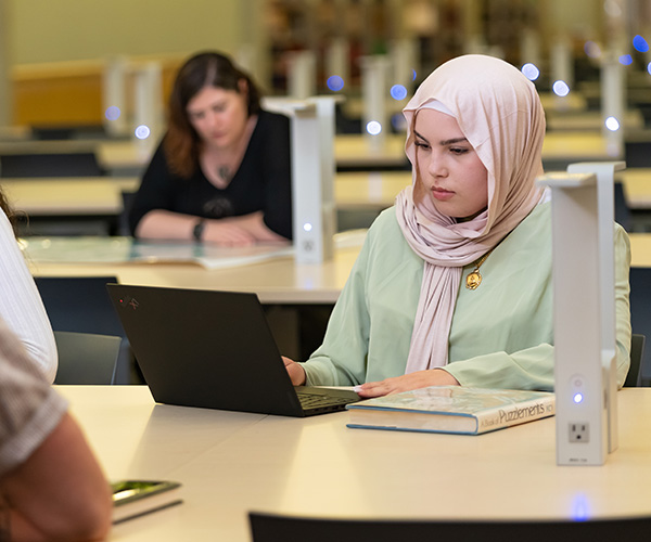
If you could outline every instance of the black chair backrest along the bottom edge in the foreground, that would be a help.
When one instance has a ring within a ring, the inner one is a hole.
[[[651,516],[601,520],[357,520],[248,515],[253,542],[395,542],[396,540],[449,540],[465,542],[600,542],[647,540]]]

